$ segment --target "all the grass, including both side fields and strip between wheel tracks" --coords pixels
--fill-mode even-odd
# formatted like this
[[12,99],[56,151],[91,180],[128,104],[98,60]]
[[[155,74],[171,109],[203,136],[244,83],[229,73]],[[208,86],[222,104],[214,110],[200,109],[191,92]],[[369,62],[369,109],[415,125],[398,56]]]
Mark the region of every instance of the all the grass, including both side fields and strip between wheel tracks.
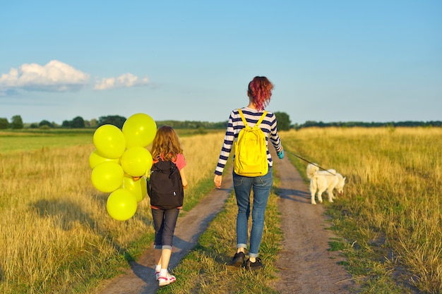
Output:
[[[185,209],[213,188],[222,135],[182,133],[191,183]],[[306,162],[289,152],[347,177],[345,194],[323,205],[342,237],[330,246],[347,256],[343,266],[360,293],[412,293],[413,287],[442,293],[441,128],[308,128],[280,135],[286,156],[304,177]],[[91,293],[150,245],[148,201],[138,204],[129,221],[107,215],[107,194],[90,183],[90,136],[71,147],[35,138],[44,147],[0,152],[1,293]],[[0,134],[0,144],[3,139]],[[266,260],[277,255],[282,238],[277,179],[270,198]],[[235,207],[230,197],[196,250],[174,270],[177,283],[161,293],[234,293],[229,286],[237,293],[273,293],[270,263],[253,276],[223,265],[234,244],[229,232]]]

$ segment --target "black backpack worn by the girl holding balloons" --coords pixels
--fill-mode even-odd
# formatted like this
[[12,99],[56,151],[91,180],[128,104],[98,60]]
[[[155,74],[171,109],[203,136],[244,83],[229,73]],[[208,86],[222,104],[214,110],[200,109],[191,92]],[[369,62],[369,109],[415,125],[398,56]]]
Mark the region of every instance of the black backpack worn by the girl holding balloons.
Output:
[[150,169],[147,182],[151,206],[160,209],[183,206],[184,188],[177,164],[158,158]]

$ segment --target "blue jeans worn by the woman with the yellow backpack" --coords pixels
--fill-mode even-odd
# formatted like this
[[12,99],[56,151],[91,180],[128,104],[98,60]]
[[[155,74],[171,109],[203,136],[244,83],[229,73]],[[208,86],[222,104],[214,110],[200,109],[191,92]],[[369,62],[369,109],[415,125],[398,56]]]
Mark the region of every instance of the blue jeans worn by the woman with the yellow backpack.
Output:
[[250,195],[253,190],[249,257],[258,257],[264,230],[265,207],[273,185],[272,168],[269,166],[265,176],[244,177],[233,173],[233,183],[238,204],[237,248],[247,248]]

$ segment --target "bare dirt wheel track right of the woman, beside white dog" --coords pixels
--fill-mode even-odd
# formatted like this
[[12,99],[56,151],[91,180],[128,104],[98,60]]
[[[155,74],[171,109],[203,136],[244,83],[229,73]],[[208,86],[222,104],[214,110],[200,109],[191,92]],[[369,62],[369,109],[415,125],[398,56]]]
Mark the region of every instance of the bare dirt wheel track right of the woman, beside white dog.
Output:
[[338,265],[342,260],[338,252],[328,251],[328,242],[335,236],[326,230],[323,205],[311,204],[307,185],[288,159],[276,159],[275,171],[281,181],[278,204],[284,232],[275,288],[287,294],[349,293],[351,276]]

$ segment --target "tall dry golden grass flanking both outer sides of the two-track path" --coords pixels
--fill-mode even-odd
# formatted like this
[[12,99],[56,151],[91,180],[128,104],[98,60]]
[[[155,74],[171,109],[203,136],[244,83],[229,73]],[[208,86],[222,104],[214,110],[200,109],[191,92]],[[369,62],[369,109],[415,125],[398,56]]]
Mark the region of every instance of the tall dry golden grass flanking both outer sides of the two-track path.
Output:
[[[186,202],[212,180],[223,134],[181,138]],[[442,292],[441,128],[309,128],[280,135],[286,151],[347,176],[345,195],[333,207],[366,235],[359,246],[391,248],[384,262],[405,266],[420,290]],[[148,198],[128,221],[107,214],[108,194],[90,183],[93,149],[0,154],[0,293],[86,293],[94,278],[124,264],[122,255],[130,258],[137,240],[152,235]]]

